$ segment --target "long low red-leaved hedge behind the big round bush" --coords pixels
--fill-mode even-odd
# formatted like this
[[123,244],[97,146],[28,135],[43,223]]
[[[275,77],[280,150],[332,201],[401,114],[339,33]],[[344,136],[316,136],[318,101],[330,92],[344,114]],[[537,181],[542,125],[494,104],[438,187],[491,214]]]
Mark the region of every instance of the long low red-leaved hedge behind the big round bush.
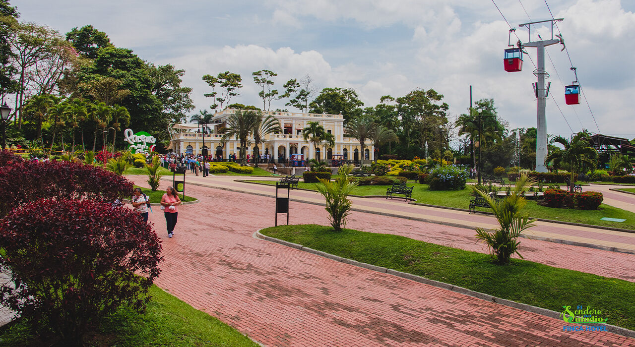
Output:
[[93,199],[116,202],[130,197],[133,185],[101,167],[77,162],[11,162],[0,167],[0,217],[35,199]]

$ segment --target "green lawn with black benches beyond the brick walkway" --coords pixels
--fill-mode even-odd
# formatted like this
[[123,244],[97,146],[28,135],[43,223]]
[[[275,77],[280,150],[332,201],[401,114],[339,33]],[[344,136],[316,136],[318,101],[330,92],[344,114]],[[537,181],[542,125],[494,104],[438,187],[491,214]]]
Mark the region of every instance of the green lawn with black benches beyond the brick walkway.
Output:
[[[275,181],[255,181],[275,185]],[[318,183],[298,183],[298,188],[316,190]],[[470,187],[464,190],[428,190],[428,185],[414,183],[409,181],[408,187],[415,186],[412,191],[413,199],[422,204],[431,204],[436,206],[457,207],[467,209],[470,200],[474,199]],[[386,195],[387,186],[360,186],[355,187],[352,191],[353,195]],[[477,207],[479,211],[490,211]],[[575,223],[584,223],[599,226],[612,226],[613,228],[625,228],[635,230],[635,213],[618,209],[617,207],[601,204],[598,210],[582,211],[577,209],[556,209],[538,205],[533,200],[528,200],[525,207],[525,213],[533,218],[553,219],[557,221],[568,221]],[[619,218],[626,219],[623,223],[603,221],[600,218]]]

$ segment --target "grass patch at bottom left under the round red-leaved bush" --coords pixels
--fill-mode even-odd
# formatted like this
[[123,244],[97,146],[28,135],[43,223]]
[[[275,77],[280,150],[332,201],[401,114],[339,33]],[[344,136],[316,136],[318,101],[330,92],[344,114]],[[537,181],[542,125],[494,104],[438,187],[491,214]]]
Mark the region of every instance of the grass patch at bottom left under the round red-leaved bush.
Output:
[[[143,314],[121,308],[107,318],[85,346],[252,346],[234,328],[203,311],[195,310],[156,286],[150,288],[152,301]],[[0,346],[50,346],[34,342],[25,322],[10,324],[0,333]]]

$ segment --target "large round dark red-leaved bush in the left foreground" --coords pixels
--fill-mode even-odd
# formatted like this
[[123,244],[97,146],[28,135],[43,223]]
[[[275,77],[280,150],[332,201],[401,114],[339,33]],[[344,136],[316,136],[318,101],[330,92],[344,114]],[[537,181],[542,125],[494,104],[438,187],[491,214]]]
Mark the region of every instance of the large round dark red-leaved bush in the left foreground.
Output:
[[162,258],[138,213],[95,200],[23,204],[0,221],[0,247],[15,283],[0,287],[0,303],[66,345],[119,306],[144,309]]

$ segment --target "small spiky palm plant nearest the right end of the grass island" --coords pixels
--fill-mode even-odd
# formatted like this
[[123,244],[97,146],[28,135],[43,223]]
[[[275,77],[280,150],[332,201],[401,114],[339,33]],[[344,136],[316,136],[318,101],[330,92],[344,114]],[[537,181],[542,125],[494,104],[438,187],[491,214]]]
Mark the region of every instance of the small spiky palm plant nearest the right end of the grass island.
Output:
[[488,202],[500,226],[493,230],[476,228],[476,238],[487,244],[491,258],[495,263],[509,264],[509,259],[514,253],[523,258],[518,252],[520,244],[518,237],[523,231],[533,226],[535,220],[530,220],[529,216],[526,215],[522,216],[520,211],[527,204],[523,192],[533,183],[535,183],[533,178],[528,178],[527,174],[522,174],[516,181],[516,187],[511,194],[500,201],[494,200],[485,190],[473,188],[474,192]]

